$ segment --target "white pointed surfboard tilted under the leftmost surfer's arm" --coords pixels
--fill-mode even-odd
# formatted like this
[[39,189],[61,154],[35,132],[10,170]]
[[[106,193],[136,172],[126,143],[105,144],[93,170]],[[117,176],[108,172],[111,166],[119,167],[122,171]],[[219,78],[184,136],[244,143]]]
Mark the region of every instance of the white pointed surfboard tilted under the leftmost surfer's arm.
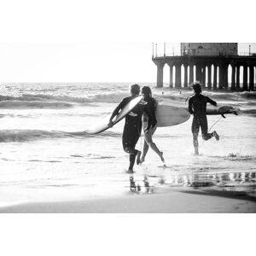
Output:
[[[116,116],[116,118],[113,119],[113,125],[116,125],[121,119],[123,119],[128,113],[130,113],[131,110],[135,108],[139,102],[142,101],[142,99],[143,96],[137,96],[131,102],[128,102],[125,105],[125,108],[123,108]],[[108,125],[110,117],[111,114],[108,117],[102,119],[99,123],[96,123],[96,125],[93,125],[90,129],[85,130],[85,132],[89,134],[97,134],[102,131],[108,130],[108,128],[110,128],[110,126]]]

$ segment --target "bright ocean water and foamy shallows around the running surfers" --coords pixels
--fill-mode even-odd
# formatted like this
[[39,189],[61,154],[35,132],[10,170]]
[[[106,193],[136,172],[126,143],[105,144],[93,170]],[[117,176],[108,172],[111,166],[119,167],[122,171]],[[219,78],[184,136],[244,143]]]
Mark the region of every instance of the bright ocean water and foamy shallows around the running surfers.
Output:
[[[192,118],[159,128],[154,142],[166,167],[149,149],[128,175],[121,143],[124,121],[99,135],[86,129],[129,96],[131,83],[0,84],[0,207],[32,201],[95,199],[132,193],[164,193],[172,187],[256,191],[256,93],[205,91],[238,116],[209,116],[219,142],[203,142],[193,154]],[[187,108],[191,90],[149,85],[160,103]],[[212,126],[213,125],[213,126]],[[211,127],[212,126],[212,127]],[[137,149],[143,148],[143,136]]]

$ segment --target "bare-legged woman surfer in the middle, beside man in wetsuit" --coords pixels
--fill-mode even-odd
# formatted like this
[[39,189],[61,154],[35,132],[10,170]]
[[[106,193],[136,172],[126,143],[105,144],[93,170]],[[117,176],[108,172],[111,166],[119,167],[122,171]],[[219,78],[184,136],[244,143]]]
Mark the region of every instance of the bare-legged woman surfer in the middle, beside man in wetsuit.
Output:
[[[143,161],[145,160],[149,147],[152,148],[154,152],[159,155],[160,160],[165,163],[163,152],[161,152],[159,148],[157,148],[152,139],[154,131],[156,131],[157,128],[157,120],[155,117],[157,102],[155,101],[154,97],[152,97],[152,91],[148,86],[143,86],[142,93],[144,95],[144,101],[148,103],[148,108],[150,110],[150,113],[152,114],[152,119],[154,120],[155,125],[151,126],[148,132],[145,132],[144,134],[143,156],[141,158],[141,163],[143,163]],[[147,113],[143,113],[143,128],[146,129],[146,127],[148,127],[148,115]]]

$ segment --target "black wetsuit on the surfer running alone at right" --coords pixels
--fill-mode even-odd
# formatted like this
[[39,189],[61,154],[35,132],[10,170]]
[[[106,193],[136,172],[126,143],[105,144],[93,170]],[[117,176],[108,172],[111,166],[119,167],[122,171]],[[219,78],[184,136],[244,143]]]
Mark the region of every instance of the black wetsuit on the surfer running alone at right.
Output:
[[197,143],[197,137],[199,133],[199,128],[201,127],[201,135],[204,140],[208,140],[213,137],[212,133],[208,133],[207,125],[207,102],[211,103],[213,106],[217,105],[217,102],[212,101],[207,96],[201,94],[195,94],[195,96],[189,99],[189,113],[194,114],[194,119],[192,122],[192,133],[194,136],[195,146]]

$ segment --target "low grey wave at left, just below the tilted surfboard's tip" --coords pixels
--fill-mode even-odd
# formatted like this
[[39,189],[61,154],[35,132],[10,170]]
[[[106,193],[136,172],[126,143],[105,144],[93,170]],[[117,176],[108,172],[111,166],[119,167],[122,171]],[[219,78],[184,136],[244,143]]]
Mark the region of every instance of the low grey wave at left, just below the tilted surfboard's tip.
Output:
[[0,143],[26,143],[43,139],[88,137],[120,137],[119,133],[107,131],[98,135],[90,135],[85,131],[44,131],[44,130],[2,130],[0,131]]

